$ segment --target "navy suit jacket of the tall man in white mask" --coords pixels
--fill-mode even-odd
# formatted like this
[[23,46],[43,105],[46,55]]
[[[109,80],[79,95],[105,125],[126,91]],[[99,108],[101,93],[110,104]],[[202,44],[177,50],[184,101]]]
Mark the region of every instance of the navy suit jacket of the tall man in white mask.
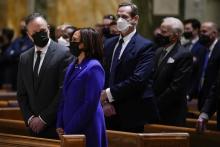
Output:
[[[111,76],[113,50],[119,37],[105,41],[106,88]],[[141,126],[157,120],[158,113],[153,99],[152,68],[154,50],[152,43],[137,33],[132,37],[116,67],[114,84],[110,87],[114,98],[118,124],[121,130]]]

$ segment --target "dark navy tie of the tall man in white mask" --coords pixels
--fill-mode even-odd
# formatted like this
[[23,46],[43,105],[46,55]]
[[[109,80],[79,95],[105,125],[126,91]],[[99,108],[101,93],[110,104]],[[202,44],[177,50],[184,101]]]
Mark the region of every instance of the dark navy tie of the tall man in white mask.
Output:
[[110,74],[110,79],[109,79],[109,86],[112,86],[114,84],[116,67],[117,67],[117,64],[118,64],[118,61],[119,61],[118,58],[119,58],[123,43],[124,43],[124,40],[123,40],[123,38],[121,38],[119,40],[118,46],[117,46],[117,48],[115,50],[115,53],[114,53],[114,56],[112,58],[112,64],[111,64],[111,69],[110,69],[111,74]]

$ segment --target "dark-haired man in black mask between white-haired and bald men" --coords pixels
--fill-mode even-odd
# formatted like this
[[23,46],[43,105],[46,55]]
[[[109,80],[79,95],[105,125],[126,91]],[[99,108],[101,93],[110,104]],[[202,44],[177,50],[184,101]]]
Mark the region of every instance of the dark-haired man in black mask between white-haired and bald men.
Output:
[[199,32],[201,24],[197,19],[184,20],[184,38],[188,41],[183,46],[193,55],[193,69],[187,92],[187,99],[198,98],[199,78],[202,73],[203,59],[205,56],[205,47],[199,42]]

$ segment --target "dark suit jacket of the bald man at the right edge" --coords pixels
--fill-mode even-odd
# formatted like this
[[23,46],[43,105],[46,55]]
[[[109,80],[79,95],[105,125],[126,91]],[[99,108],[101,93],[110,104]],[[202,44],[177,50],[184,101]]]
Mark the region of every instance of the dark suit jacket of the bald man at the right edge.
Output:
[[[204,59],[203,59],[204,62]],[[217,79],[217,74],[220,69],[220,41],[216,43],[213,48],[212,54],[209,58],[208,65],[205,71],[204,84],[199,91],[198,108],[201,110],[206,98],[209,95],[212,85]]]

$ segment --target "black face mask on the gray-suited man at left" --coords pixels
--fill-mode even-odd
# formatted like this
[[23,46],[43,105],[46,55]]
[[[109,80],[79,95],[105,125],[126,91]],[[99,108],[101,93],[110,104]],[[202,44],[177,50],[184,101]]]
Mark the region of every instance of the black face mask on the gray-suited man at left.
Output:
[[49,41],[48,34],[45,31],[34,33],[32,38],[34,39],[34,44],[38,47],[45,47]]

